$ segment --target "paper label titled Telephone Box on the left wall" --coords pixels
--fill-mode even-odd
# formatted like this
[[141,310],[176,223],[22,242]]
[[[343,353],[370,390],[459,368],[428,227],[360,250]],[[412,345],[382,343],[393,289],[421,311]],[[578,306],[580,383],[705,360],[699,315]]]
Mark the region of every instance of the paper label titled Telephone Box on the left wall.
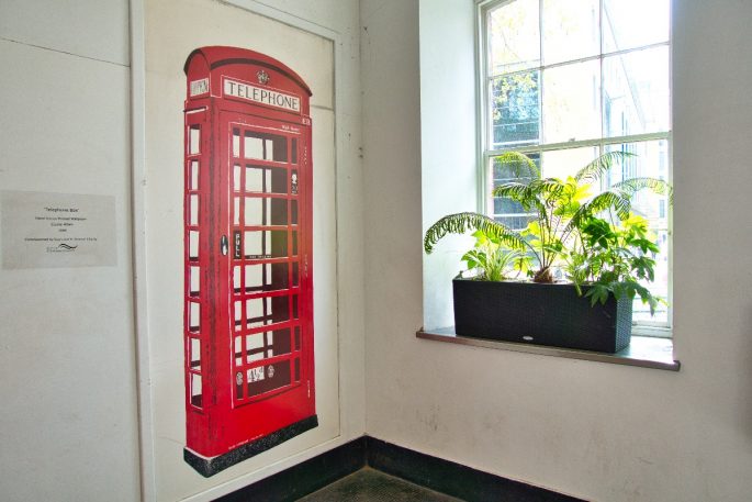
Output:
[[115,198],[1,191],[0,236],[4,269],[114,266]]

